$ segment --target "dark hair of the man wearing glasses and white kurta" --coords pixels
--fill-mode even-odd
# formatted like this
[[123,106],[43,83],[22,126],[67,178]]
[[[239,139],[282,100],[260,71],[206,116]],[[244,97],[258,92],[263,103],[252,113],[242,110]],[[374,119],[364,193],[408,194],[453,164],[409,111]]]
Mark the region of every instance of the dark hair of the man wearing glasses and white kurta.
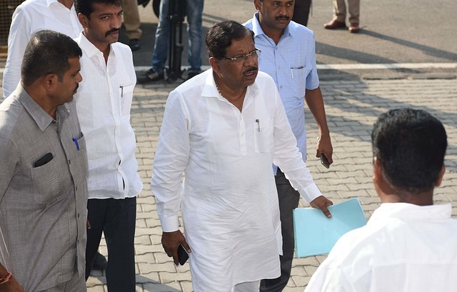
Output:
[[214,24],[206,34],[206,48],[209,58],[221,58],[226,56],[226,51],[234,39],[243,39],[244,36],[251,36],[254,41],[254,33],[246,26],[236,21],[222,21]]

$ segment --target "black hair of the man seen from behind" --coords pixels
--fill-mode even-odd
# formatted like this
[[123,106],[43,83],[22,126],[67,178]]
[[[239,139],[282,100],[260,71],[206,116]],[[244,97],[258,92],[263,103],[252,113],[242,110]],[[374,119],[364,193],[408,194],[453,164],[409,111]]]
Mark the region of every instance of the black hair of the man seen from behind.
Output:
[[441,121],[420,109],[393,109],[379,116],[371,141],[391,186],[413,194],[433,191],[448,146]]

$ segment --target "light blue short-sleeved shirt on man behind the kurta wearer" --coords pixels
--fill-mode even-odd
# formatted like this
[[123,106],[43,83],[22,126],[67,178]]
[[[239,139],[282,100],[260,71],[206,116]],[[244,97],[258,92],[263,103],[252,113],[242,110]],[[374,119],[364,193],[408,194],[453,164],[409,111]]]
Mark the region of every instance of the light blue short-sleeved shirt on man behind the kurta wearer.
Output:
[[304,96],[306,89],[317,89],[319,86],[313,31],[291,21],[276,44],[263,32],[258,12],[244,25],[254,32],[256,48],[262,51],[258,69],[270,75],[278,87],[298,149],[306,161]]

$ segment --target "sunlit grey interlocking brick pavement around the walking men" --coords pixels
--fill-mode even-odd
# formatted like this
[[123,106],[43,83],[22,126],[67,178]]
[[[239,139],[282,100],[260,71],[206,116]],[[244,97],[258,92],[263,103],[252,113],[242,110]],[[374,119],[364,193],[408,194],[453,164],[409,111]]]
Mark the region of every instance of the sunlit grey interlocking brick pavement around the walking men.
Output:
[[[192,291],[189,264],[176,267],[161,247],[161,227],[149,182],[164,106],[177,84],[136,86],[131,124],[137,137],[136,158],[144,182],[136,223],[136,291]],[[457,79],[370,80],[321,82],[333,141],[331,168],[314,157],[317,128],[307,111],[308,166],[321,191],[334,203],[357,196],[369,218],[379,200],[371,183],[370,134],[377,116],[388,109],[413,106],[441,119],[448,133],[447,172],[436,190],[436,203],[451,202],[457,215]],[[301,201],[302,206],[308,206]],[[104,243],[102,243],[104,244]],[[106,246],[101,252],[106,254]],[[296,258],[285,292],[303,291],[325,256]],[[94,271],[89,292],[106,291],[104,273]]]

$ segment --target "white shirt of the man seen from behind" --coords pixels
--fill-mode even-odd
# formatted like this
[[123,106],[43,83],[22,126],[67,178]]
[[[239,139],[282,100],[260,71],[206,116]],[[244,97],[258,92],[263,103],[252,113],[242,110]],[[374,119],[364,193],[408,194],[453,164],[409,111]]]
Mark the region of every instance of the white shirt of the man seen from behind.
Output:
[[457,220],[451,204],[383,203],[342,236],[306,292],[451,292],[457,289]]

